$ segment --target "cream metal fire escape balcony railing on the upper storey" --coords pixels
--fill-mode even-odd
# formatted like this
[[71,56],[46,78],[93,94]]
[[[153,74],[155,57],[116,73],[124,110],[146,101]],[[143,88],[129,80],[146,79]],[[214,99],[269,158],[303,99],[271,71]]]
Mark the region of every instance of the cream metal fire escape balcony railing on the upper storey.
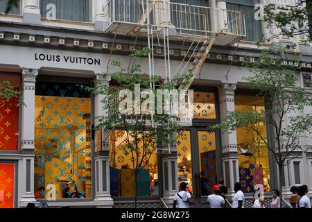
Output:
[[110,0],[104,10],[108,33],[146,35],[147,24],[153,31],[173,28],[176,36],[224,33],[244,37],[246,33],[243,12],[234,10],[153,0]]

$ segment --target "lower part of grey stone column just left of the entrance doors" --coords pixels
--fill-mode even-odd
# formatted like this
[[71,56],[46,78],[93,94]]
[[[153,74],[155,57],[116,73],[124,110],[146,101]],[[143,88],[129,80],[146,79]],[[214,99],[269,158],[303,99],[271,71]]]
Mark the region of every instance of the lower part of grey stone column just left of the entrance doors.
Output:
[[175,135],[172,137],[171,154],[162,158],[162,171],[163,171],[163,189],[164,189],[164,202],[168,207],[173,206],[173,196],[177,194],[179,188],[177,186],[177,146],[175,144]]

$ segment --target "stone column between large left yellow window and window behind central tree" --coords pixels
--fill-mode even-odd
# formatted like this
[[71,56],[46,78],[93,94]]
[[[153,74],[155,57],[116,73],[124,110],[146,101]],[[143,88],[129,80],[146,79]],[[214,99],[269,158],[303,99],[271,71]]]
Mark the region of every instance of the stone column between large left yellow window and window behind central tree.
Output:
[[[110,78],[101,74],[96,74],[96,86],[109,85]],[[105,94],[99,92],[94,98],[94,116],[105,116],[106,110],[103,108]],[[95,119],[95,126],[98,126],[98,119]],[[96,130],[95,137],[95,191],[94,203],[99,208],[111,208],[114,204],[110,196],[110,144],[108,130]]]

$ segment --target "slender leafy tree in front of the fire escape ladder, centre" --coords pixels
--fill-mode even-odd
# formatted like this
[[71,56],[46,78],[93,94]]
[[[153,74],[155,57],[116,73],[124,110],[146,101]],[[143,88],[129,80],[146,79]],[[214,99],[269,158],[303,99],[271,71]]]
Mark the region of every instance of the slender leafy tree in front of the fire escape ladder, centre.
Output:
[[[103,116],[96,117],[99,122],[96,130],[108,130],[109,135],[117,129],[125,132],[127,139],[121,149],[123,155],[131,157],[131,167],[135,176],[134,207],[137,207],[139,173],[148,166],[150,157],[157,149],[164,151],[175,142],[177,139],[175,135],[181,130],[171,108],[169,113],[159,114],[157,112],[157,108],[159,108],[155,105],[155,98],[159,99],[157,89],[163,89],[165,94],[168,94],[171,90],[183,85],[184,78],[191,78],[191,74],[177,75],[166,83],[159,77],[150,78],[142,73],[141,65],[137,63],[140,57],[148,56],[148,53],[150,53],[148,49],[135,50],[131,55],[135,62],[128,69],[123,69],[121,62],[112,61],[112,66],[118,71],[106,72],[103,75],[110,76],[111,81],[117,83],[117,87],[107,87],[101,83],[98,83],[94,89],[85,87],[95,94],[105,95],[105,99],[101,103],[107,112]],[[138,85],[143,90],[136,91]],[[155,85],[157,85],[157,89],[155,89]],[[132,98],[135,98],[138,92],[141,96],[133,102]],[[171,101],[175,99],[174,96],[170,97]],[[161,105],[166,105],[165,100]],[[136,109],[137,112],[133,112]]]

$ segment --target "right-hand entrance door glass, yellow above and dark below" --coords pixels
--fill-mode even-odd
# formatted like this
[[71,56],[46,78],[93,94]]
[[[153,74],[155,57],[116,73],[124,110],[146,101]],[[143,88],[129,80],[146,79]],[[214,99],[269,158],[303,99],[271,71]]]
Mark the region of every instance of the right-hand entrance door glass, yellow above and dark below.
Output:
[[216,133],[198,131],[198,151],[200,157],[200,194],[211,194],[217,182],[216,173]]

